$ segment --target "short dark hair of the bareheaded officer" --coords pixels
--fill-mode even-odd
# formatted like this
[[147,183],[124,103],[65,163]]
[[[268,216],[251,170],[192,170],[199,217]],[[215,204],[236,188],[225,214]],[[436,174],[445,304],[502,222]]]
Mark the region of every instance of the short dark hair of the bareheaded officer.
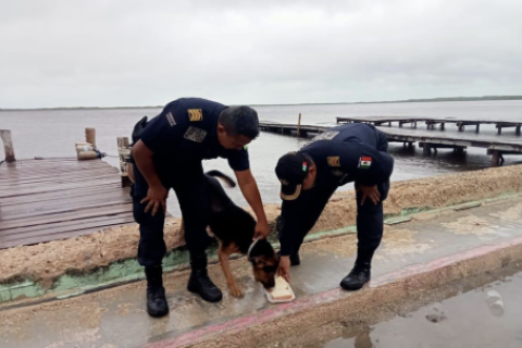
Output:
[[249,139],[256,139],[259,135],[258,112],[250,107],[228,107],[221,112],[220,123],[226,133]]

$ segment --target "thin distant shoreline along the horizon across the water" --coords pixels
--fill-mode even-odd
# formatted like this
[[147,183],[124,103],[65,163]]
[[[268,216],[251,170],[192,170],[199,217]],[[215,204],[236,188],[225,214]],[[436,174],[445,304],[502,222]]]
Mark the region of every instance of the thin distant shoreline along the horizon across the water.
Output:
[[[484,97],[449,97],[406,99],[389,101],[356,101],[356,102],[310,102],[289,104],[249,104],[251,107],[291,107],[291,105],[336,105],[336,104],[380,104],[380,103],[406,103],[406,102],[444,102],[444,101],[496,101],[496,100],[522,100],[522,96],[484,96]],[[161,109],[164,105],[150,107],[71,107],[71,108],[34,108],[34,109],[2,109],[1,111],[46,111],[46,110],[112,110],[112,109]]]

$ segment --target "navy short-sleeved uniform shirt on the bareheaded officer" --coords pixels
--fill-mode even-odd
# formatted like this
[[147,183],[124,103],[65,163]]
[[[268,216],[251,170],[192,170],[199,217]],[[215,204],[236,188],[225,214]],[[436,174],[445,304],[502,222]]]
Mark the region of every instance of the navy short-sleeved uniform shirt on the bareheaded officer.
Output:
[[228,159],[234,171],[249,169],[246,147],[225,149],[217,140],[217,120],[227,107],[200,98],[183,98],[169,103],[140,135],[154,153],[154,162],[190,163],[217,157]]

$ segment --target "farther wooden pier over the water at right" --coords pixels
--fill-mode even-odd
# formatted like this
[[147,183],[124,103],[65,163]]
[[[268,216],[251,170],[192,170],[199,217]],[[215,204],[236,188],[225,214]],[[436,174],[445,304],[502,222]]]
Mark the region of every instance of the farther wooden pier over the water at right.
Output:
[[465,126],[474,126],[475,133],[480,132],[482,124],[493,124],[497,128],[497,133],[502,134],[502,128],[514,127],[515,135],[521,135],[522,122],[499,121],[499,120],[459,120],[459,119],[430,119],[417,116],[352,116],[352,117],[337,117],[337,123],[370,123],[376,126],[387,124],[391,126],[393,123],[398,123],[399,128],[405,124],[410,124],[417,128],[418,123],[424,122],[428,129],[435,129],[436,126],[444,130],[447,123],[455,123],[459,132],[464,132]]

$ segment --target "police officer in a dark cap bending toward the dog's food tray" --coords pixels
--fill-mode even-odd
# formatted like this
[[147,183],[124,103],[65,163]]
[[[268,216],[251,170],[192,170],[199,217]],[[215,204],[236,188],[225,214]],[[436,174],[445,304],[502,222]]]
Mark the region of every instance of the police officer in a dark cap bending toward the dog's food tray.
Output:
[[357,190],[357,260],[341,281],[347,290],[370,281],[374,251],[383,237],[383,200],[389,189],[394,160],[386,135],[362,123],[347,124],[319,135],[298,152],[283,156],[279,178],[279,274],[290,281],[289,268],[300,263],[299,248],[337,187],[355,182]]

